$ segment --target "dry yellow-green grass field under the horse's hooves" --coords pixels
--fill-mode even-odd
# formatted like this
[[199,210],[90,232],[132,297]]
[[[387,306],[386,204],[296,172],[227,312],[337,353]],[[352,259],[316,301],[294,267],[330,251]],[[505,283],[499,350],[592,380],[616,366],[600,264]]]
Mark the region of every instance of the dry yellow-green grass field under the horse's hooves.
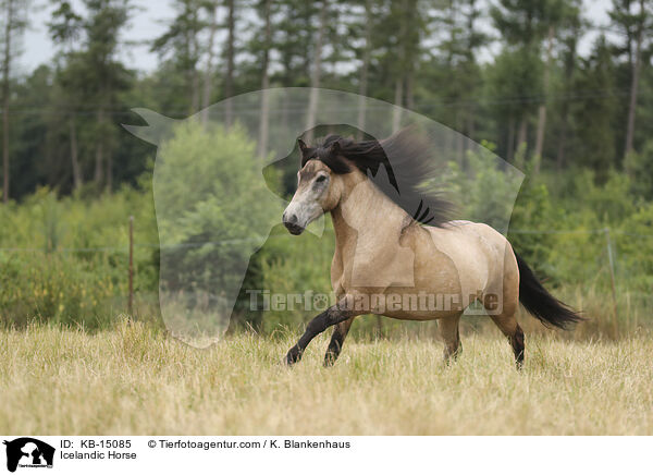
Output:
[[196,350],[139,324],[94,334],[53,327],[0,332],[0,433],[187,435],[653,434],[653,340],[571,342],[468,334],[444,366],[429,339],[326,337],[294,368],[295,336],[232,337]]

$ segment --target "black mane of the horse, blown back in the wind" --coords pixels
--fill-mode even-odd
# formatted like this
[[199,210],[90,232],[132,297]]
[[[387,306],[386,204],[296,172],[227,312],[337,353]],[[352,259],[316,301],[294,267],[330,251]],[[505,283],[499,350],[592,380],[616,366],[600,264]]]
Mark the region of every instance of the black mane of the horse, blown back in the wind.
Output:
[[[337,174],[352,172],[352,166],[358,168],[418,222],[442,226],[451,219],[452,204],[428,185],[436,179],[433,147],[414,127],[382,141],[328,135],[321,144],[303,150],[301,167],[310,159],[322,161]],[[387,180],[379,175],[381,166]]]

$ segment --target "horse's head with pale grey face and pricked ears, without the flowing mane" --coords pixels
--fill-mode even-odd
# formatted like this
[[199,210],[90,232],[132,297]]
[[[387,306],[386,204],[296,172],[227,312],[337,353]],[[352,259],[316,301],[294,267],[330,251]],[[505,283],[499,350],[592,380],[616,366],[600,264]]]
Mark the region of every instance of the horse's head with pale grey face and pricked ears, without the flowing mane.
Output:
[[297,191],[283,212],[283,223],[295,235],[301,234],[311,221],[335,208],[342,193],[341,175],[326,165],[332,161],[330,157],[333,157],[333,162],[342,159],[338,142],[319,148],[308,147],[301,139],[297,143],[301,151]]

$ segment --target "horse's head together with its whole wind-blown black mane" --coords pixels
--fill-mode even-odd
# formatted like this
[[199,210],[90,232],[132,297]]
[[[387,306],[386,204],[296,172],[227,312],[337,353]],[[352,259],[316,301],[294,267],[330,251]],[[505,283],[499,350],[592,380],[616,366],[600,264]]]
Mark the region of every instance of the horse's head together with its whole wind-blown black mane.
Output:
[[405,127],[382,141],[370,136],[356,142],[329,135],[316,147],[297,142],[301,151],[299,180],[283,214],[291,233],[300,234],[341,199],[349,199],[352,190],[365,179],[370,179],[416,221],[441,226],[449,220],[452,205],[436,190],[424,187],[438,176],[433,156],[436,147],[417,126]]

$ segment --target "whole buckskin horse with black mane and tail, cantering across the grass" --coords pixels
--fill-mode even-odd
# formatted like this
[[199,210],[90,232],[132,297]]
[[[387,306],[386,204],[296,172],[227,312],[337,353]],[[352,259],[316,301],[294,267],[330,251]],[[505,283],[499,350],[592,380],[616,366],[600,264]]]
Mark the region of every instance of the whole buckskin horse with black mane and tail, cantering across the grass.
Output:
[[[546,291],[503,234],[484,223],[449,219],[451,203],[423,186],[432,172],[431,151],[410,127],[381,141],[332,134],[312,146],[298,138],[297,145],[297,188],[282,219],[299,235],[331,214],[336,303],[308,322],[287,352],[287,365],[299,362],[310,341],[332,326],[324,366],[333,365],[352,322],[365,314],[436,319],[448,363],[461,352],[461,315],[480,302],[507,337],[517,368],[525,357],[519,302],[547,327],[566,329],[582,320]],[[383,180],[374,179],[382,172]]]

